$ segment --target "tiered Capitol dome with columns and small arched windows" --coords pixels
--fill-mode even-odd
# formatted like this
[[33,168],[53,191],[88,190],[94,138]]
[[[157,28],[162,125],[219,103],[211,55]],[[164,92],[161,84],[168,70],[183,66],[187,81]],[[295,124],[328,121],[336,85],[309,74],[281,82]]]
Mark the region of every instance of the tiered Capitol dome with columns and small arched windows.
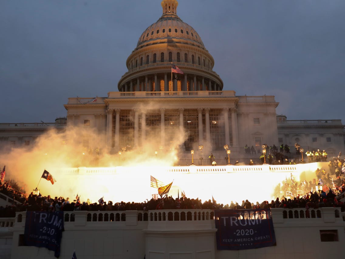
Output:
[[[140,35],[118,83],[120,92],[219,91],[223,81],[199,34],[177,16],[178,2],[163,0],[162,16]],[[183,73],[171,74],[174,64]]]

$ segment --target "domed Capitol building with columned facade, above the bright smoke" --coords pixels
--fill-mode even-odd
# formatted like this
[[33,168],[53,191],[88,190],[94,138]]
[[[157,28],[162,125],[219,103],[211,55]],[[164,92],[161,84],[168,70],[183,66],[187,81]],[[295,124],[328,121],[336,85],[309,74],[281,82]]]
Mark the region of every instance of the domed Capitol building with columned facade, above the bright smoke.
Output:
[[[177,16],[177,1],[162,1],[163,14],[140,35],[126,61],[128,72],[118,82],[118,92],[107,97],[69,98],[67,131],[73,126],[95,130],[104,136],[108,153],[124,147],[140,147],[154,139],[154,149],[174,148],[190,153],[204,146],[205,153],[234,153],[248,144],[325,149],[329,156],[345,153],[341,120],[287,121],[276,115],[274,96],[236,96],[224,91],[213,71],[215,61],[199,34]],[[171,73],[172,64],[184,74]],[[0,144],[31,145],[46,123],[0,124]],[[49,124],[66,128],[66,119]],[[91,147],[90,136],[81,141]],[[152,144],[153,145],[153,144]],[[224,150],[223,150],[224,151]]]

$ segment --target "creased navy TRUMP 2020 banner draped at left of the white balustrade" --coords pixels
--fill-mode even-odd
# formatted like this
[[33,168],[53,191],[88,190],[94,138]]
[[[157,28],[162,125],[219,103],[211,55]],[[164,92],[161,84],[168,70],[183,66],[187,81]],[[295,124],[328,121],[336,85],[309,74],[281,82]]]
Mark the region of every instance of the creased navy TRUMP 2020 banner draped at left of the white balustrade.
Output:
[[24,238],[27,246],[45,247],[60,256],[63,211],[27,211]]

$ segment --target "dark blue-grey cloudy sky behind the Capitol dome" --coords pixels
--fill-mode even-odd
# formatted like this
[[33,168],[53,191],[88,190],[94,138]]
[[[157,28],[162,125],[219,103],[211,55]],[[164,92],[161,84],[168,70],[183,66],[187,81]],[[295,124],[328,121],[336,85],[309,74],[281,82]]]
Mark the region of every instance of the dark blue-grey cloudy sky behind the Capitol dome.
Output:
[[[160,0],[0,0],[0,123],[53,122],[117,91]],[[288,119],[344,115],[344,0],[180,0],[224,90],[275,95]]]

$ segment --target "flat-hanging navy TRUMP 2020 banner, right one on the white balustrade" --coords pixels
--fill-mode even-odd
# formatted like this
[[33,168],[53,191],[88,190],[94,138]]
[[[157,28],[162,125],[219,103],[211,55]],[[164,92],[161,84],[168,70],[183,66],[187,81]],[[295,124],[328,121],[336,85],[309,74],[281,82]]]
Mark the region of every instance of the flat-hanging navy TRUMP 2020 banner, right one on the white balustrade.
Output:
[[269,209],[215,210],[218,250],[242,250],[276,245]]

